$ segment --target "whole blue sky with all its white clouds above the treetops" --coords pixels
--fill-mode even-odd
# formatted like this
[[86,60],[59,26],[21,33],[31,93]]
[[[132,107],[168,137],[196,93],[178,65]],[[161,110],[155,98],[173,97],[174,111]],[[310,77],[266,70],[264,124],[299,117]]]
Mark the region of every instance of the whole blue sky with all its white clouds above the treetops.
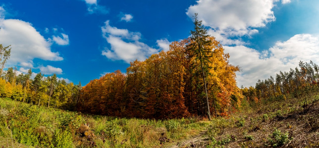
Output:
[[241,67],[238,86],[319,64],[318,0],[0,0],[0,43],[6,67],[85,85],[187,38],[194,13]]

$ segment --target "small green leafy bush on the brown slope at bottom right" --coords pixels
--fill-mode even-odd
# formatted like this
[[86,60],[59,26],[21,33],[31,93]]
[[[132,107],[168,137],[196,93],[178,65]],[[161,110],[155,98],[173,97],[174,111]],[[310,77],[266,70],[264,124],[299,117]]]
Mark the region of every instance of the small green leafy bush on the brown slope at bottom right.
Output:
[[291,139],[289,139],[289,133],[281,133],[280,130],[275,129],[272,134],[268,136],[268,143],[267,146],[277,148],[285,145],[288,143]]

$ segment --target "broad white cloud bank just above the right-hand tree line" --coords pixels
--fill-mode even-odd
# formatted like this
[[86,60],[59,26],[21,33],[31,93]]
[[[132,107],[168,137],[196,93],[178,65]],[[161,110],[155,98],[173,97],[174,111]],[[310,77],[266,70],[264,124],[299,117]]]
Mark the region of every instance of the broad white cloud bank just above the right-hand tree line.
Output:
[[255,86],[258,79],[265,80],[279,71],[288,72],[298,67],[299,61],[319,63],[319,37],[309,34],[278,41],[263,52],[243,45],[224,46],[224,49],[230,55],[230,64],[241,67],[241,72],[237,73],[238,85],[246,87]]

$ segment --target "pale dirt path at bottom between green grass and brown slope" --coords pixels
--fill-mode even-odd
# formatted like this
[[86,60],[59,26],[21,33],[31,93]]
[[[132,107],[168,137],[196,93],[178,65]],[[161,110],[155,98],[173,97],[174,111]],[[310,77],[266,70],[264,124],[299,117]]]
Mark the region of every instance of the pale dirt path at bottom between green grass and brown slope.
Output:
[[170,148],[205,148],[205,145],[207,144],[208,138],[205,137],[205,132],[201,132],[199,135],[184,140],[182,142],[177,142],[174,144],[174,146]]

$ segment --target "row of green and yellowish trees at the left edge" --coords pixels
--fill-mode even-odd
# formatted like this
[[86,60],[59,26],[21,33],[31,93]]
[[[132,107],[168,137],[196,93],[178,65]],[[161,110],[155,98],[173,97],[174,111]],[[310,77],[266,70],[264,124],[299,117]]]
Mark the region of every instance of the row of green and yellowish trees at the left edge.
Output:
[[75,110],[80,97],[81,83],[74,85],[58,80],[56,74],[44,76],[36,74],[32,79],[31,69],[27,74],[16,74],[8,68],[0,78],[0,96],[38,106]]

